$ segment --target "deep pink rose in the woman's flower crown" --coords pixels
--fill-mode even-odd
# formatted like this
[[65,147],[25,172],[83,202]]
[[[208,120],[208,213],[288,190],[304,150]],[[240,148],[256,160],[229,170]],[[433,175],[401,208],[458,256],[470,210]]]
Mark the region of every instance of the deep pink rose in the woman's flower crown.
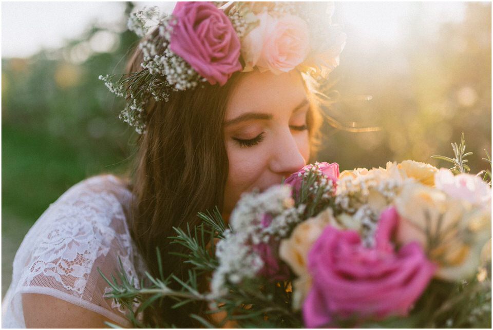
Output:
[[210,84],[224,85],[241,70],[240,41],[229,18],[207,2],[179,2],[169,48]]

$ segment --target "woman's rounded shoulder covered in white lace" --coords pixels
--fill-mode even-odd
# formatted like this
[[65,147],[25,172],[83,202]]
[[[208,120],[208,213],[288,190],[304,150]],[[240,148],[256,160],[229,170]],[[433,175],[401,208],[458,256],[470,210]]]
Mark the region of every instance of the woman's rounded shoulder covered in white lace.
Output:
[[[125,181],[112,174],[94,176],[73,185],[29,230],[20,247],[27,254],[24,261],[43,260],[46,265],[54,266],[55,279],[62,273],[78,271],[87,278],[94,261],[104,262],[108,253],[129,256],[131,239],[127,219],[131,199]],[[55,260],[64,260],[66,265]],[[28,273],[30,277],[41,274]],[[47,275],[46,270],[43,275]],[[82,293],[83,285],[70,285],[69,289]]]

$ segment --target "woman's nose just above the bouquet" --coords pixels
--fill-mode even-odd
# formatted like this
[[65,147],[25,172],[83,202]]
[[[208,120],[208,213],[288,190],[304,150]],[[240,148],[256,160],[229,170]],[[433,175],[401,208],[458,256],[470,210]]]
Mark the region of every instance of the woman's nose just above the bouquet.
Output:
[[279,136],[273,147],[270,168],[273,172],[287,178],[293,172],[305,166],[306,160],[300,152],[299,146],[291,131]]

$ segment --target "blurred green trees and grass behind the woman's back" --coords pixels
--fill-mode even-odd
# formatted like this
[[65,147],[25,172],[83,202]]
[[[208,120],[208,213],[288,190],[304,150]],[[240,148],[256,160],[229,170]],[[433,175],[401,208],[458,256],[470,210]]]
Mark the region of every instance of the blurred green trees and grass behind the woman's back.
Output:
[[122,102],[98,80],[123,71],[138,41],[126,30],[133,4],[122,5],[126,17],[116,26],[92,25],[61,49],[2,59],[3,210],[33,222],[70,185],[127,170],[132,129],[116,118]]

